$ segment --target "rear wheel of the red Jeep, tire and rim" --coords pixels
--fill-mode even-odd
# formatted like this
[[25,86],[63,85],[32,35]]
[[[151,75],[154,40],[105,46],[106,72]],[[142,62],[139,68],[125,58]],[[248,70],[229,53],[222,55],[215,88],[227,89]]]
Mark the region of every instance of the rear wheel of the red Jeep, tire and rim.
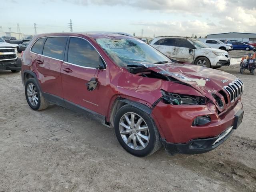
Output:
[[[29,94],[29,95],[28,95]],[[36,111],[44,110],[48,107],[48,101],[44,98],[38,82],[35,78],[30,78],[25,83],[25,96],[30,108]]]

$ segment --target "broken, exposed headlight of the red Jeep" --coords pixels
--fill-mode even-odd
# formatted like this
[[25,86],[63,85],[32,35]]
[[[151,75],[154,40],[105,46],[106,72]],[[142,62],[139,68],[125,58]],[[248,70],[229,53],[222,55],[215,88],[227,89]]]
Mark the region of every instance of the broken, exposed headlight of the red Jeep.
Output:
[[176,94],[161,90],[163,102],[172,105],[204,105],[206,98],[194,95]]

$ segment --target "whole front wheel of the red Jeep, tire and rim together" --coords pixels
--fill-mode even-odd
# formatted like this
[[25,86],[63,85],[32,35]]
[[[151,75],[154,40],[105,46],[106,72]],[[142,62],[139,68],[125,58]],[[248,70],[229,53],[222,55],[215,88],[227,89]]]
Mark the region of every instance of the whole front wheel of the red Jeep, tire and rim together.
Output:
[[[132,114],[134,115],[134,123],[132,123]],[[142,118],[142,121],[136,126],[140,118]],[[129,123],[126,119],[128,119]],[[134,126],[134,128],[129,129],[128,127],[131,128],[131,125]],[[138,131],[141,128],[143,131]],[[154,120],[146,112],[143,112],[136,107],[130,105],[122,106],[116,113],[114,129],[116,138],[121,146],[134,156],[149,156],[162,146],[160,134]],[[121,134],[120,132],[123,132],[124,134]],[[134,138],[136,145],[134,145]]]

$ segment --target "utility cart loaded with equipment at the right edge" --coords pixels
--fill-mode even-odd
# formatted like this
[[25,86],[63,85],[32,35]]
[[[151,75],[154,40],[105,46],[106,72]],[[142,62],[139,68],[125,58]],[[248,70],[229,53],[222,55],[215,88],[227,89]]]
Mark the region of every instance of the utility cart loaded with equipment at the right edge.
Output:
[[243,74],[245,70],[250,70],[250,73],[254,74],[254,70],[256,68],[255,57],[256,57],[255,53],[249,53],[242,58],[240,62],[240,74]]

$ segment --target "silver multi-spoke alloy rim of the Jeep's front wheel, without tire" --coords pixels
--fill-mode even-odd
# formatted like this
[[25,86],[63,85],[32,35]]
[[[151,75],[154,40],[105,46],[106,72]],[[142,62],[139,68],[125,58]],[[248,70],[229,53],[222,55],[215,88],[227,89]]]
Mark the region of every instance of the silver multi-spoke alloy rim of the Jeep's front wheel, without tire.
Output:
[[124,143],[134,150],[143,150],[148,145],[148,126],[136,113],[129,112],[121,117],[119,131]]

